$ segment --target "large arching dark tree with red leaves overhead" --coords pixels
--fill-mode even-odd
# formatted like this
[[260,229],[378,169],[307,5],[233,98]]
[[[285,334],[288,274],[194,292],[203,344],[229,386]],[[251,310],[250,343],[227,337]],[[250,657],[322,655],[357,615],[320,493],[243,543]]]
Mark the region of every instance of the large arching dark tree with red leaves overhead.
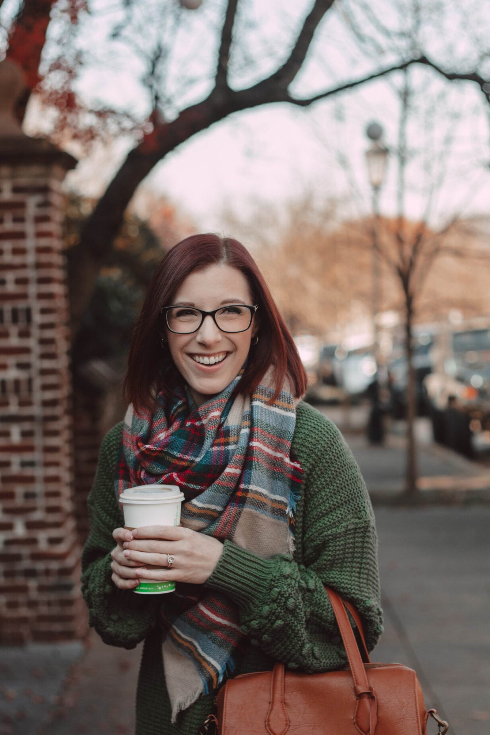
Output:
[[[272,27],[269,12],[261,15],[257,4],[245,0],[207,0],[194,13],[181,7],[177,0],[120,0],[109,10],[104,4],[93,3],[89,7],[84,0],[21,2],[8,32],[7,57],[21,63],[29,90],[35,90],[40,101],[48,105],[51,114],[43,118],[46,124],[51,121],[48,132],[60,143],[75,138],[87,144],[96,137],[116,135],[136,142],[85,221],[73,251],[78,274],[71,283],[73,334],[79,329],[98,272],[107,260],[138,184],[157,162],[197,132],[233,112],[263,104],[287,102],[307,107],[414,63],[430,66],[446,79],[474,82],[489,99],[490,87],[483,71],[442,68],[421,53],[423,44],[414,43],[413,38],[403,34],[407,12],[418,18],[417,22],[422,18],[418,1],[401,8],[403,12],[397,16],[400,28],[395,27],[396,21],[388,26],[386,18],[391,18],[392,13],[386,13],[387,10],[390,4],[386,7],[380,3],[376,15],[372,4],[364,1],[352,7],[347,1],[334,4],[333,0],[314,0],[306,12],[301,7],[287,15],[281,8],[282,24],[275,24],[275,33],[270,34],[265,29],[267,24]],[[87,42],[86,37],[79,42],[81,18],[86,19],[89,11],[93,42]],[[298,93],[298,79],[312,62],[312,41],[315,35],[318,40],[327,13],[336,22],[346,23],[364,44],[364,56],[356,66],[359,73],[355,79],[340,84],[330,82],[323,89],[314,93],[308,90],[302,95]],[[262,26],[264,37],[260,35]],[[255,58],[249,51],[253,32],[258,32],[260,39]],[[421,33],[419,37],[422,36]],[[329,43],[331,47],[331,38]],[[315,43],[313,51],[317,63],[328,68],[322,60],[321,46]],[[87,107],[76,93],[82,68],[91,64],[100,75],[116,60],[120,71],[126,50],[140,69],[146,90],[140,112],[135,112],[137,104],[130,104],[127,110],[103,104]],[[37,83],[41,55],[43,79]],[[483,49],[472,58],[474,69],[483,69],[488,57]],[[352,68],[348,56],[344,65]],[[451,66],[455,66],[452,57]],[[127,101],[132,102],[132,98],[129,93]],[[22,110],[19,112],[22,115]]]

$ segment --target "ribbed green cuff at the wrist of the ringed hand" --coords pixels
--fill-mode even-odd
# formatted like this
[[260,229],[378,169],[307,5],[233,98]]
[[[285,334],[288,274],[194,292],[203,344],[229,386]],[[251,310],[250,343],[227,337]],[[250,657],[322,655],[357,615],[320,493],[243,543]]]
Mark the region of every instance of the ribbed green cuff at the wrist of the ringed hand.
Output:
[[225,592],[241,607],[253,606],[264,600],[274,573],[274,559],[264,559],[256,553],[225,541],[225,548],[206,587]]

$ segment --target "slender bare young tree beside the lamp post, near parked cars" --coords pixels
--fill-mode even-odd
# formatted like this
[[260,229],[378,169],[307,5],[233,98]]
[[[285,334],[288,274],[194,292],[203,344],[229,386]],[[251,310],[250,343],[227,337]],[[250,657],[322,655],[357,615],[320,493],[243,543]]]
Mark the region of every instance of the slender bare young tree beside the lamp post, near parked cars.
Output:
[[[442,137],[442,146],[436,143],[433,133],[439,126],[439,113],[444,101],[434,98],[425,104],[425,118],[422,126],[414,135],[411,123],[419,120],[422,104],[425,102],[423,96],[425,89],[419,80],[405,69],[402,81],[397,92],[400,100],[400,114],[398,118],[397,143],[393,147],[396,166],[396,199],[397,216],[392,220],[383,221],[379,218],[378,223],[373,222],[373,227],[379,225],[378,236],[372,237],[372,247],[375,254],[386,268],[397,280],[401,293],[403,294],[403,323],[405,328],[405,354],[408,366],[408,381],[406,395],[406,418],[407,418],[407,461],[406,461],[406,495],[408,498],[416,498],[417,488],[417,445],[414,433],[414,420],[417,412],[416,407],[416,385],[414,368],[414,336],[413,327],[417,311],[422,307],[422,294],[425,284],[433,273],[433,265],[444,255],[460,259],[474,259],[477,251],[469,240],[460,240],[458,245],[450,241],[456,224],[461,220],[461,212],[466,205],[461,201],[453,211],[445,213],[444,221],[434,232],[429,226],[433,215],[434,201],[439,196],[447,175],[447,155],[453,146],[455,132],[457,129],[458,115],[451,114],[447,108],[447,129]],[[407,216],[407,198],[411,193],[411,181],[408,173],[414,160],[419,157],[423,161],[425,181],[417,182],[417,193],[422,202],[422,215],[418,221],[410,222]],[[475,165],[475,164],[472,164]],[[477,167],[480,162],[476,163]],[[478,249],[478,248],[477,248]],[[480,250],[478,257],[484,255],[489,262],[489,253]],[[447,291],[447,284],[445,284]],[[455,302],[455,292],[451,294],[453,308],[459,306]]]

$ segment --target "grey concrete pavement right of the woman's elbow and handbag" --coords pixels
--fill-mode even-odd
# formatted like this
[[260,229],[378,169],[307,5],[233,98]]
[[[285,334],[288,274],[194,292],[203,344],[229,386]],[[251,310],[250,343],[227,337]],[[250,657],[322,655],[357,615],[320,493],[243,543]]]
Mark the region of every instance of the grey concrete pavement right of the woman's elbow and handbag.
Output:
[[378,508],[376,520],[385,632],[372,660],[417,670],[451,735],[488,735],[490,508]]

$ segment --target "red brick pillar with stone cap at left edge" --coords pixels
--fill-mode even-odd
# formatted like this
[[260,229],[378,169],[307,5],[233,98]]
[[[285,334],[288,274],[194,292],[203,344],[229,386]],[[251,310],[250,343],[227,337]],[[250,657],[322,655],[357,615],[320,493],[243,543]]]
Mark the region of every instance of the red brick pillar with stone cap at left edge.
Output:
[[[67,640],[85,625],[73,516],[68,298],[61,238],[76,165],[12,117],[0,64],[0,641]],[[2,124],[3,123],[3,124]],[[7,123],[7,124],[6,124]]]

